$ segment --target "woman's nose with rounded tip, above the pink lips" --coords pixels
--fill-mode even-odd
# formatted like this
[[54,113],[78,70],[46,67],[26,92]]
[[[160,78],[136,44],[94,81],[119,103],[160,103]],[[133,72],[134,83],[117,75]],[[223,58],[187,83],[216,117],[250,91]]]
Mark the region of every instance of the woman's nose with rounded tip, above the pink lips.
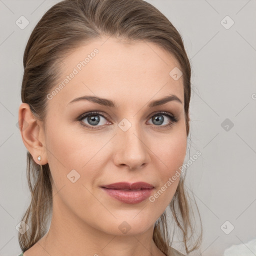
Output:
[[116,146],[113,160],[116,166],[137,169],[148,164],[150,150],[138,125],[132,124],[126,131],[118,128],[114,139]]

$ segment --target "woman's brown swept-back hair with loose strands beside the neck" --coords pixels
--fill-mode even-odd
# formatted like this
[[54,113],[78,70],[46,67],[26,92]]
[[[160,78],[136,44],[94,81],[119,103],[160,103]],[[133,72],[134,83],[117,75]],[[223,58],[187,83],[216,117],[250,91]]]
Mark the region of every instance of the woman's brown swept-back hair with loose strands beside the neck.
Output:
[[[175,56],[183,73],[184,111],[188,136],[191,68],[182,37],[159,10],[143,0],[63,0],[53,5],[38,21],[25,47],[22,102],[29,104],[36,118],[44,120],[47,110],[46,95],[56,84],[61,71],[58,68],[61,58],[81,44],[102,35],[113,35],[127,41],[153,42]],[[19,245],[23,251],[46,233],[47,216],[52,210],[52,178],[48,163],[42,166],[42,171],[39,169],[39,165],[27,151],[27,180],[31,202],[21,219],[29,225],[29,229],[23,234],[18,234]],[[194,230],[187,198],[184,177],[180,176],[169,207],[188,253],[199,247],[202,230],[189,248],[189,231],[193,233]],[[165,211],[154,225],[153,240],[163,253],[174,254],[175,250],[169,243]]]

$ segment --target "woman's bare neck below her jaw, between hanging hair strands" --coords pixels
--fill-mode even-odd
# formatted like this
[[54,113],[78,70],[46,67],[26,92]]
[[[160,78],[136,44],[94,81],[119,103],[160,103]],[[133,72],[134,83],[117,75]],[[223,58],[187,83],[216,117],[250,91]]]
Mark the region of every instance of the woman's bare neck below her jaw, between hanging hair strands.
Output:
[[50,228],[38,241],[44,253],[38,255],[163,256],[153,242],[152,235],[153,225],[139,234],[107,233],[99,226],[81,220],[68,207],[63,209],[62,205],[52,209]]

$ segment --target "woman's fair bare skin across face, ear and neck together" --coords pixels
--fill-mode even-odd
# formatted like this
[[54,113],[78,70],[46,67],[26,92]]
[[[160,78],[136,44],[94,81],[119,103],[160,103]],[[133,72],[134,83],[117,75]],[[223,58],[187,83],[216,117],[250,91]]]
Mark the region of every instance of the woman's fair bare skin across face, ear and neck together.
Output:
[[[50,228],[24,256],[164,255],[152,240],[153,227],[171,201],[179,177],[153,202],[145,199],[126,204],[100,186],[144,181],[153,184],[153,195],[182,165],[186,153],[183,81],[182,76],[174,80],[169,75],[172,68],[181,69],[180,65],[153,43],[102,37],[63,59],[58,82],[94,48],[99,50],[95,57],[48,100],[45,129],[28,104],[19,107],[19,119],[27,125],[20,130],[24,145],[36,163],[49,164],[54,181]],[[169,101],[147,107],[149,101],[169,94],[182,103]],[[111,99],[118,107],[87,100],[68,104],[84,95]],[[89,129],[81,125],[93,126],[88,118],[76,121],[89,111],[100,111],[110,118],[99,115],[100,123]],[[158,111],[179,120],[166,126],[172,120],[162,115],[164,121],[157,125],[151,117]],[[131,123],[126,131],[118,127],[123,118]],[[67,178],[72,169],[80,174],[74,183]],[[118,228],[123,221],[130,227],[126,233]]]

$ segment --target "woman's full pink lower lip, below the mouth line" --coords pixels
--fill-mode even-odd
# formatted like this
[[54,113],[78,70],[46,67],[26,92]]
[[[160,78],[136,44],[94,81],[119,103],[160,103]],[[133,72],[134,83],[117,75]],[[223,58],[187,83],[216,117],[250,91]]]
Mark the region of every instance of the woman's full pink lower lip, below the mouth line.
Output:
[[107,192],[111,197],[124,202],[124,203],[139,203],[148,198],[153,190],[141,189],[141,190],[122,190],[122,189],[110,189],[101,187],[105,192]]

